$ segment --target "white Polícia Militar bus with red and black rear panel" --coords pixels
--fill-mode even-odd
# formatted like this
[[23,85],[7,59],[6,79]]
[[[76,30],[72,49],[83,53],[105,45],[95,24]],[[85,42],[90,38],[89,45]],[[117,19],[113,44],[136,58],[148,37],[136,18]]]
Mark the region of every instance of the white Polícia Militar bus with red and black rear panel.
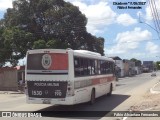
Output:
[[72,49],[37,49],[27,52],[27,103],[93,104],[115,89],[114,61],[99,53]]

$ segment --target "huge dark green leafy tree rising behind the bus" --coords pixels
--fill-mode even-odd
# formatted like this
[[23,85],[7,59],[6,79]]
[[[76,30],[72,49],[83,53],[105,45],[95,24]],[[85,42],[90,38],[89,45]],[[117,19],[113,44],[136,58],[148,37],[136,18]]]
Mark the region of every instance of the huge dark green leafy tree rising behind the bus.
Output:
[[0,42],[9,50],[4,59],[16,65],[28,49],[40,48],[86,49],[103,55],[104,38],[88,33],[86,24],[85,15],[69,2],[14,0],[0,22]]

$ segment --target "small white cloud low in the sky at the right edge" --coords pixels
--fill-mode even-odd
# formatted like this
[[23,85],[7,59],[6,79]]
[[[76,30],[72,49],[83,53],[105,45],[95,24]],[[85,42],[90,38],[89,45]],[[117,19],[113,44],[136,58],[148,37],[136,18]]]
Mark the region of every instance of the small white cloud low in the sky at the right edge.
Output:
[[147,42],[146,51],[149,53],[158,53],[160,49],[158,45],[154,44],[153,42]]

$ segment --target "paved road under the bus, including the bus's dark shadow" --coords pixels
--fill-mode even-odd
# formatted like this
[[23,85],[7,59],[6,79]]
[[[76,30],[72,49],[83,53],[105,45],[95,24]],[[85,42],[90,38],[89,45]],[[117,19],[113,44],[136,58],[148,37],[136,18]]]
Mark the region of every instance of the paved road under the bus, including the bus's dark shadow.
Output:
[[[160,75],[160,72],[158,72],[158,75]],[[12,95],[12,97],[10,97],[10,99],[7,101],[4,101],[4,100],[0,101],[0,106],[1,106],[0,110],[1,111],[4,111],[4,110],[6,111],[9,111],[9,110],[50,111],[50,112],[45,112],[46,118],[43,118],[45,120],[53,119],[52,118],[53,111],[104,111],[104,112],[101,112],[101,115],[96,118],[96,119],[101,119],[107,113],[105,111],[126,110],[127,107],[129,106],[125,105],[124,107],[123,104],[127,100],[129,100],[129,98],[131,98],[132,94],[135,93],[133,91],[136,91],[138,87],[142,88],[141,86],[143,86],[144,84],[150,85],[150,86],[149,85],[147,86],[147,89],[148,89],[149,87],[152,86],[152,84],[150,83],[152,83],[153,78],[155,77],[151,77],[150,73],[143,73],[133,77],[120,78],[119,81],[117,82],[117,87],[116,87],[116,90],[113,92],[113,95],[111,97],[103,96],[98,98],[94,105],[88,105],[87,103],[74,105],[74,106],[51,106],[51,105],[32,105],[32,104],[28,105],[25,103],[24,95],[20,95],[20,96]],[[87,114],[95,114],[95,112],[87,112]],[[63,114],[58,115],[58,117],[54,119],[66,119],[64,118],[65,115],[66,113],[63,112]],[[67,119],[70,119],[70,118],[67,118]],[[77,119],[77,118],[74,118],[74,119]]]

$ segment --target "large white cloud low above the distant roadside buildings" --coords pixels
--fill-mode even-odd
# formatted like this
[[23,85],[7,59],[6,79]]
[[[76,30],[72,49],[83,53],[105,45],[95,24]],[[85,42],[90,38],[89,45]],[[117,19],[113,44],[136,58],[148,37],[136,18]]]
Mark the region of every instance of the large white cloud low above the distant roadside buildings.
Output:
[[139,46],[139,43],[152,38],[148,30],[135,28],[133,31],[118,33],[116,37],[117,44],[110,49],[106,49],[107,54],[127,53]]

